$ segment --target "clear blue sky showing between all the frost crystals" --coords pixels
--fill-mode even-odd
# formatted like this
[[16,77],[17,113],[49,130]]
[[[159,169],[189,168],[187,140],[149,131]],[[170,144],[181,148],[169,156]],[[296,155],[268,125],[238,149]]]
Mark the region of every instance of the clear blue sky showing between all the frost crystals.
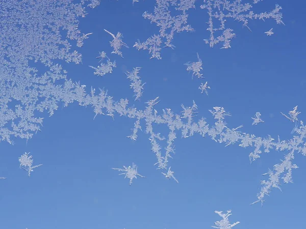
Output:
[[[294,124],[280,111],[288,113],[298,105],[300,120],[305,119],[305,36],[303,1],[294,4],[281,0],[264,1],[254,12],[283,7],[284,23],[274,20],[250,21],[250,32],[237,21],[228,25],[237,34],[231,49],[210,48],[203,42],[209,37],[206,31],[208,15],[199,8],[190,10],[190,24],[195,33],[175,34],[174,50],[162,50],[162,60],[150,60],[148,52],[137,51],[133,45],[140,39],[158,33],[158,27],[142,18],[144,11],[152,12],[154,1],[103,1],[80,19],[83,33],[93,33],[78,49],[83,54],[80,65],[65,64],[67,77],[81,81],[87,90],[105,88],[115,100],[127,98],[138,109],[144,102],[160,97],[156,106],[159,112],[171,108],[175,113],[181,104],[198,105],[198,117],[206,117],[210,125],[214,119],[208,111],[222,106],[232,114],[227,117],[228,127],[244,127],[241,131],[277,139],[290,139]],[[264,32],[273,27],[270,37]],[[111,54],[111,36],[103,29],[116,34],[130,46],[123,48],[124,59]],[[73,43],[73,42],[72,42]],[[106,51],[117,68],[104,77],[93,75],[97,66],[95,57]],[[203,62],[205,79],[191,79],[184,63],[196,61],[196,52]],[[142,67],[140,76],[144,85],[141,101],[134,102],[130,81],[124,74],[134,67]],[[201,82],[208,81],[209,96],[200,94]],[[259,111],[264,124],[251,126],[251,117]],[[260,191],[261,174],[283,159],[280,152],[263,154],[249,163],[251,148],[238,145],[224,148],[209,137],[195,135],[182,139],[178,133],[174,141],[176,154],[169,165],[179,184],[167,180],[156,170],[155,155],[150,151],[148,135],[139,133],[137,141],[126,138],[131,134],[134,120],[126,117],[97,116],[91,107],[77,104],[60,108],[52,118],[44,119],[42,131],[28,144],[15,139],[15,145],[1,142],[0,176],[0,228],[6,229],[186,229],[211,228],[221,218],[215,210],[232,209],[231,222],[241,223],[234,228],[248,229],[303,229],[306,228],[305,175],[306,158],[296,155],[293,170],[294,184],[282,186],[283,192],[273,190],[266,203],[250,206]],[[196,119],[197,119],[196,118]],[[157,127],[164,135],[165,127]],[[163,145],[164,147],[165,145]],[[18,157],[31,152],[36,168],[31,177],[19,169]],[[118,176],[112,167],[138,165],[145,179],[129,180]]]

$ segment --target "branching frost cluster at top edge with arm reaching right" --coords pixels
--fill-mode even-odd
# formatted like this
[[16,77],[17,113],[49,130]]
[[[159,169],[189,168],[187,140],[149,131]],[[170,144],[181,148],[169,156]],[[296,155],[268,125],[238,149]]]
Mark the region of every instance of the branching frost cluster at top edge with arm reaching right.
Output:
[[[255,0],[253,4],[257,4],[261,1]],[[201,9],[206,9],[209,15],[209,22],[207,30],[210,32],[210,38],[205,39],[205,42],[213,47],[219,42],[223,42],[222,48],[230,48],[231,41],[235,37],[233,30],[225,26],[228,18],[232,18],[236,21],[243,22],[243,26],[248,27],[248,20],[254,19],[275,19],[277,24],[283,23],[282,13],[280,12],[282,7],[279,5],[275,6],[275,9],[270,12],[255,14],[251,11],[252,5],[249,3],[242,3],[242,0],[204,0],[204,4],[201,5]],[[214,24],[214,20],[220,22],[219,25]],[[284,24],[284,23],[283,23]],[[249,27],[248,27],[249,28]],[[222,32],[216,37],[217,32]]]

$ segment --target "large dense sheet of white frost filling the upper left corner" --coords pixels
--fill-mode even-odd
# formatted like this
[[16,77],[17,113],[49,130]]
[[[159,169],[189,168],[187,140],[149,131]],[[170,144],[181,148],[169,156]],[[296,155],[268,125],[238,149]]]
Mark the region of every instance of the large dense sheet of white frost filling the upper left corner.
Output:
[[[65,71],[54,60],[78,64],[81,54],[70,50],[67,39],[83,45],[89,34],[81,34],[78,18],[85,17],[84,4],[99,1],[0,1],[0,141],[13,143],[11,136],[29,139],[40,130],[42,118],[37,111],[48,110],[50,116],[73,90]],[[61,31],[67,37],[62,39]],[[49,71],[37,75],[30,61],[40,62]],[[72,83],[72,82],[71,82]],[[58,85],[57,85],[58,84]],[[74,88],[75,89],[75,88]],[[71,98],[66,97],[66,102]],[[65,99],[64,99],[65,100]],[[17,105],[10,105],[10,103]],[[65,103],[65,102],[64,102]]]

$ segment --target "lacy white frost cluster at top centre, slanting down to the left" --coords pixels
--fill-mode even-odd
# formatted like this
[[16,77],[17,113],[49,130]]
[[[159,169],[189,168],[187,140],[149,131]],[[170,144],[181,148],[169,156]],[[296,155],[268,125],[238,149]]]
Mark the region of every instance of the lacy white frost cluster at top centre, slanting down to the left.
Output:
[[[195,0],[156,0],[154,13],[144,12],[143,17],[149,19],[151,23],[156,23],[160,28],[160,34],[154,34],[145,42],[136,42],[134,47],[138,50],[148,49],[151,58],[161,59],[161,44],[165,47],[174,48],[172,44],[175,33],[192,32],[193,28],[187,24],[189,9],[195,8]],[[171,15],[169,8],[174,7],[176,15]],[[177,13],[179,12],[179,13]]]

